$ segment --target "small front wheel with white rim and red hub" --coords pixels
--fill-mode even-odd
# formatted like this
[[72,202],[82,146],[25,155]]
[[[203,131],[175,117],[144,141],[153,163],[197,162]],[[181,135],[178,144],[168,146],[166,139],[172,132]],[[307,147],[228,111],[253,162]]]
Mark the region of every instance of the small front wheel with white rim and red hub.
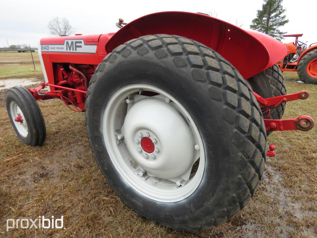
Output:
[[5,102],[11,124],[20,140],[30,146],[42,145],[46,127],[40,107],[29,90],[8,89]]

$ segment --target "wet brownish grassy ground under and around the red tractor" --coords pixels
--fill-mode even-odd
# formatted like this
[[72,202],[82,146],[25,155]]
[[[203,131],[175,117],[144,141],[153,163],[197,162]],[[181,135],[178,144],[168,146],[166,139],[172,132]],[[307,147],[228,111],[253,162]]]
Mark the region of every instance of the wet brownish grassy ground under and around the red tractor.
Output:
[[[18,53],[26,54],[26,53]],[[296,83],[284,73],[288,93],[308,90],[307,100],[288,102],[284,118],[317,118],[317,85]],[[140,217],[118,198],[94,161],[84,113],[60,100],[39,101],[46,122],[43,146],[31,148],[17,138],[0,91],[1,237],[317,237],[317,129],[274,132],[268,143],[277,155],[251,202],[233,219],[199,232],[165,229]],[[13,229],[8,218],[64,215],[65,229]]]

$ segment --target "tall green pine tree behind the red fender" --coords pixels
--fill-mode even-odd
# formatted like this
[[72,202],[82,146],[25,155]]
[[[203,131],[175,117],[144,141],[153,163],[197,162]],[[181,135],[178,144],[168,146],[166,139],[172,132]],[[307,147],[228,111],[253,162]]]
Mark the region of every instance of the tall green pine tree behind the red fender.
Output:
[[286,15],[283,15],[286,9],[282,6],[283,0],[264,0],[262,10],[257,10],[256,18],[252,20],[250,28],[261,31],[277,39],[283,39],[283,34],[279,27],[288,23]]

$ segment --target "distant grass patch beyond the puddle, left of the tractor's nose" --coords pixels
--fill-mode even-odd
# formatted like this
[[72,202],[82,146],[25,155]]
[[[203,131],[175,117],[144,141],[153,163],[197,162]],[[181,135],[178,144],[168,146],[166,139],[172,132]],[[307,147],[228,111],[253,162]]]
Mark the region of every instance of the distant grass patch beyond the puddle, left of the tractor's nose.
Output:
[[30,52],[0,52],[0,79],[42,77],[39,55],[37,52],[32,54],[36,70]]

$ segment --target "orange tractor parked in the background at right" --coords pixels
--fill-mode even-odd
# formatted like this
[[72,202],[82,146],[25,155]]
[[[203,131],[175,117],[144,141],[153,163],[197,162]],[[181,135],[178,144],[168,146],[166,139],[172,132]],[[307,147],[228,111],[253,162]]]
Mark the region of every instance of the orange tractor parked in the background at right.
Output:
[[308,46],[298,40],[303,34],[283,35],[284,37],[295,37],[295,42],[286,43],[287,54],[278,63],[281,71],[298,73],[304,83],[317,84],[317,42]]

